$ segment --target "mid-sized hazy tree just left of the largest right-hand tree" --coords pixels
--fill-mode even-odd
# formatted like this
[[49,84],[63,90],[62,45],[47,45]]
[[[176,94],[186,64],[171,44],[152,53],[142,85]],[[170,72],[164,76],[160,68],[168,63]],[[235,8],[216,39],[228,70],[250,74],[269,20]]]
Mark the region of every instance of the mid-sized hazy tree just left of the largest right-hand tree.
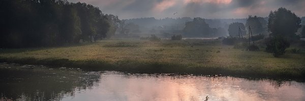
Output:
[[247,22],[246,22],[247,30],[249,31],[249,26],[250,26],[252,28],[251,31],[253,34],[261,34],[264,31],[263,25],[261,22],[264,22],[264,19],[262,17],[249,16],[249,18],[247,19]]

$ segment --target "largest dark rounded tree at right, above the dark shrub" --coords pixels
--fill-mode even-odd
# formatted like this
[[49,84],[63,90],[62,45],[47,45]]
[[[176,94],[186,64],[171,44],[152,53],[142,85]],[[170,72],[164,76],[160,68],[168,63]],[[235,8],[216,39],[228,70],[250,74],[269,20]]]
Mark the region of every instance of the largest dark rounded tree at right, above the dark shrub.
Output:
[[289,39],[295,37],[295,32],[300,28],[300,18],[290,10],[279,8],[270,12],[268,19],[268,30],[271,36],[283,36]]

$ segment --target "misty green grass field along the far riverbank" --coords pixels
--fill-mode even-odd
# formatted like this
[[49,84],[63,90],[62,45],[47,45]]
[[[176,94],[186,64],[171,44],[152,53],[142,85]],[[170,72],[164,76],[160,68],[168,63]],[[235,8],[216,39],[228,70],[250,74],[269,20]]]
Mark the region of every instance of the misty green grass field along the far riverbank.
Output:
[[1,49],[0,62],[67,66],[132,73],[180,73],[235,77],[305,78],[305,54],[275,58],[223,45],[214,39],[102,40],[52,48]]

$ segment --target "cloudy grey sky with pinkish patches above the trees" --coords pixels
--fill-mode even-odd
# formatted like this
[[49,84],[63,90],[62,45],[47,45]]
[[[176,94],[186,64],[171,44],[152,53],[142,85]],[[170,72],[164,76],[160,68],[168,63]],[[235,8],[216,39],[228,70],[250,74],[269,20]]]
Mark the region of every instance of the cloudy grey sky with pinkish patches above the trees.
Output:
[[[305,0],[68,0],[99,7],[104,14],[119,19],[155,17],[201,17],[205,19],[267,17],[284,7],[297,16],[305,16]],[[174,13],[177,13],[174,15]]]

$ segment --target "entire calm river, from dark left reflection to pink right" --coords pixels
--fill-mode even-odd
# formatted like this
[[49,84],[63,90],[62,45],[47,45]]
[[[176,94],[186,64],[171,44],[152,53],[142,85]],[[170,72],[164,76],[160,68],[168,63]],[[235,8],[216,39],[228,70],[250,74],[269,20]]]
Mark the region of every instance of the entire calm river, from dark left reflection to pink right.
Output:
[[0,66],[0,100],[305,100],[295,81]]

